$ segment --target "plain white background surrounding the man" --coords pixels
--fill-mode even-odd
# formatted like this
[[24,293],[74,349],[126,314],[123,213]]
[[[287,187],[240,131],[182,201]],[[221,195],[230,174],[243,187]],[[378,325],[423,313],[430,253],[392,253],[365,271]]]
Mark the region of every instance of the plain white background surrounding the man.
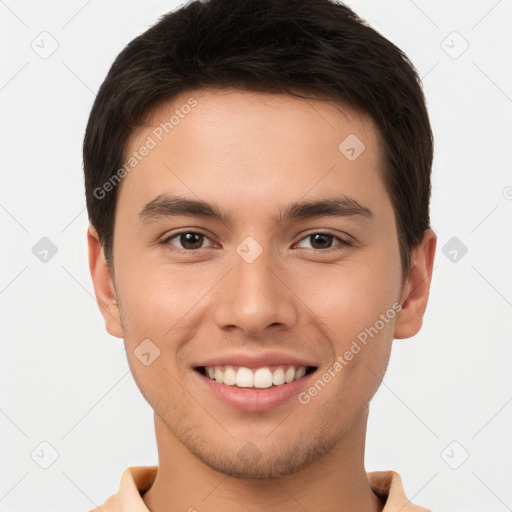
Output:
[[[81,144],[115,56],[177,5],[0,2],[3,512],[87,511],[126,467],[157,464],[152,410],[93,296]],[[418,68],[436,139],[430,304],[421,333],[395,341],[367,470],[398,471],[439,512],[511,510],[512,1],[349,5]],[[44,31],[58,43],[47,59],[31,47],[56,44]],[[57,247],[46,263],[42,237]],[[452,237],[468,249],[456,262]]]

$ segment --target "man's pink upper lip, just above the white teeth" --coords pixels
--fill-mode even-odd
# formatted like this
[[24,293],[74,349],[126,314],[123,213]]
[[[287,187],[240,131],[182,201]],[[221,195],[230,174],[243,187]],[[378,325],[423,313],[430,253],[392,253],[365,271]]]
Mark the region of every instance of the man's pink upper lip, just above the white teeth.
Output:
[[193,364],[194,368],[208,366],[244,366],[247,368],[261,368],[264,366],[316,366],[306,358],[297,357],[295,355],[283,352],[263,352],[260,354],[251,354],[247,352],[230,352],[221,354],[209,359],[204,359],[197,364]]

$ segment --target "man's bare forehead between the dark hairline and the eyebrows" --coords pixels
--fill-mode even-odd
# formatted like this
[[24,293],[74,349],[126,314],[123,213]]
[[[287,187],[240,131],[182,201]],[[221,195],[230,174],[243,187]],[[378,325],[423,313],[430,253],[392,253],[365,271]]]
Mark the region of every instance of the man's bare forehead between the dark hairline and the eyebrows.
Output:
[[134,132],[125,156],[139,160],[121,182],[121,202],[172,191],[243,203],[249,213],[287,196],[342,192],[364,201],[385,194],[371,117],[289,94],[185,92]]

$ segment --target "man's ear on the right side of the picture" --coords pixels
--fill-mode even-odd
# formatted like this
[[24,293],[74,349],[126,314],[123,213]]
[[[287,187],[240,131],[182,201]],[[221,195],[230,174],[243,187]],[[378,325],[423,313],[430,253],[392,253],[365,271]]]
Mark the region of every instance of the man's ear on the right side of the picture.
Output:
[[428,229],[412,251],[411,269],[400,297],[402,309],[395,322],[395,338],[410,338],[421,329],[432,281],[436,244],[435,233]]

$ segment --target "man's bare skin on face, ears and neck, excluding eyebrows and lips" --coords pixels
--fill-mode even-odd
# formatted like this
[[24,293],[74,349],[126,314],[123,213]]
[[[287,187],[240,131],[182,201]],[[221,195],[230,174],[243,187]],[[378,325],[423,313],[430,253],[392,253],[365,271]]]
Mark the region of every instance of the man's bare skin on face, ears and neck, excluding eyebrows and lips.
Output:
[[[226,512],[241,502],[250,511],[382,510],[363,464],[368,404],[393,338],[421,328],[436,237],[425,233],[404,279],[378,130],[369,116],[331,102],[189,91],[134,133],[128,153],[191,96],[197,106],[120,184],[112,269],[95,229],[88,232],[107,331],[124,338],[155,411],[159,471],[143,500],[156,512]],[[366,146],[354,161],[338,149],[349,134]],[[142,221],[144,206],[164,193],[214,203],[232,222]],[[274,220],[296,201],[340,193],[372,217]],[[179,252],[190,251],[183,237],[169,239],[182,230],[206,235],[192,255]],[[315,233],[334,238],[315,243]],[[236,252],[248,236],[263,249],[252,263]],[[321,376],[397,303],[401,311],[307,404],[293,397],[240,411],[198,384],[198,361],[232,351],[296,355]],[[134,355],[145,339],[160,350],[149,366]]]

